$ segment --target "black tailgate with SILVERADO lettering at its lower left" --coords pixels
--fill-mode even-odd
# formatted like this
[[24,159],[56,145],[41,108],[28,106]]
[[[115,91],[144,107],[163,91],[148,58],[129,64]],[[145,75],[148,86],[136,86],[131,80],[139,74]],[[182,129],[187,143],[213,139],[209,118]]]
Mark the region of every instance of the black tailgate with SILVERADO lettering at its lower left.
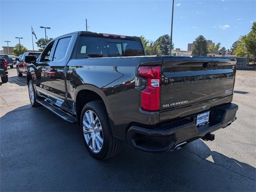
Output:
[[235,65],[231,58],[163,57],[160,110],[232,95]]

